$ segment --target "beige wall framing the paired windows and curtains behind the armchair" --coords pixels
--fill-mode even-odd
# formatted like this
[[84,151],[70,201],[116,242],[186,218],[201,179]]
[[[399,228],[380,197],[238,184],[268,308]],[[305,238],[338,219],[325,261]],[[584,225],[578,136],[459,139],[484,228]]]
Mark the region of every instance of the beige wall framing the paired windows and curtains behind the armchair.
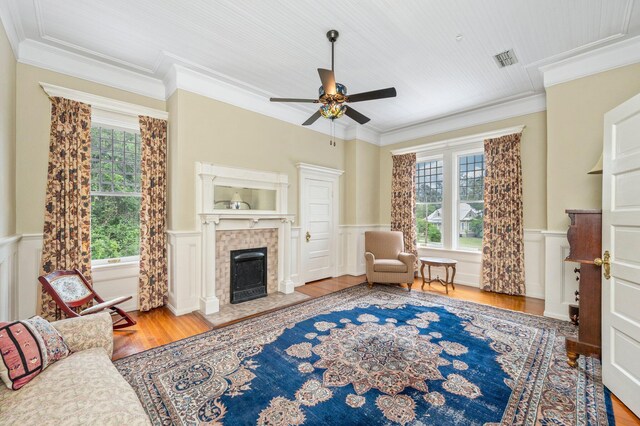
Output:
[[382,147],[380,151],[380,223],[391,221],[391,151],[524,124],[522,181],[524,226],[546,229],[546,114],[539,112]]

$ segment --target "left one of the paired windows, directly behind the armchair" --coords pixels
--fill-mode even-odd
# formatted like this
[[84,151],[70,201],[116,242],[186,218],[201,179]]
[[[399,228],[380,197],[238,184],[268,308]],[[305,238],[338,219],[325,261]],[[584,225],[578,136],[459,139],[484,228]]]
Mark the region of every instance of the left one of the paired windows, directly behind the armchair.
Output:
[[442,246],[442,160],[416,163],[418,243]]

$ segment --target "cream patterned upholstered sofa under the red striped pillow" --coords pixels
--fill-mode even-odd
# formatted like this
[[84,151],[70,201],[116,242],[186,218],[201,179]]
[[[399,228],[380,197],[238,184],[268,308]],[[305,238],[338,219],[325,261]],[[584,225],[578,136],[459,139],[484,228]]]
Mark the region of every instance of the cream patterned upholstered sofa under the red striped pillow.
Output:
[[0,424],[150,424],[136,393],[111,362],[110,315],[104,312],[52,324],[72,353],[19,390],[0,383]]

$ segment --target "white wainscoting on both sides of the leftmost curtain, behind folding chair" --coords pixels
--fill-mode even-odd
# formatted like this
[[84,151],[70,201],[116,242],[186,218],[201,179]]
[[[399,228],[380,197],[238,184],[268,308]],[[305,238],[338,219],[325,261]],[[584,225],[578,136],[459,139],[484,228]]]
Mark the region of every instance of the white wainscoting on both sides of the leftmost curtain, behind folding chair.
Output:
[[[18,244],[17,318],[36,314],[38,302],[38,276],[42,258],[42,234],[24,234]],[[137,262],[100,265],[92,268],[93,286],[103,299],[133,296],[120,305],[125,311],[138,309]]]

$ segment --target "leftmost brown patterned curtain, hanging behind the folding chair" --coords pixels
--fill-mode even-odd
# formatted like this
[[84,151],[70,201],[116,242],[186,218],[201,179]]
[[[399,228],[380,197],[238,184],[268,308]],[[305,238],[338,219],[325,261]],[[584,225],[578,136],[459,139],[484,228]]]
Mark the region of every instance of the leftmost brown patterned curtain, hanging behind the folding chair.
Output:
[[[40,274],[78,268],[91,283],[91,106],[51,99],[48,170]],[[61,316],[44,290],[40,315]]]

